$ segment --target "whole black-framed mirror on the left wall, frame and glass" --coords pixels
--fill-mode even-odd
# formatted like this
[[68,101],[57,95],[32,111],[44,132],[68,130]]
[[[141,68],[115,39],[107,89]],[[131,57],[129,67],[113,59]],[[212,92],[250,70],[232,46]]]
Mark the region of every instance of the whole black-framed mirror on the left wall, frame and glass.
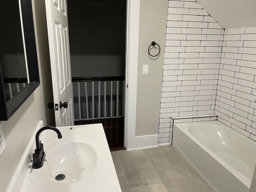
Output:
[[1,1],[0,23],[2,121],[8,120],[40,84],[32,1]]

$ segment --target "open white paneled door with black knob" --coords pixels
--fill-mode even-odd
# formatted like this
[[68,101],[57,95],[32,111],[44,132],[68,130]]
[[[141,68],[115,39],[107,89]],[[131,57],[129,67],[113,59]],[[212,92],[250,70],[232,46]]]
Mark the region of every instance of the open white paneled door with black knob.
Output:
[[[56,126],[74,125],[66,0],[45,0]],[[66,106],[62,106],[67,102]],[[67,108],[66,108],[67,107]]]

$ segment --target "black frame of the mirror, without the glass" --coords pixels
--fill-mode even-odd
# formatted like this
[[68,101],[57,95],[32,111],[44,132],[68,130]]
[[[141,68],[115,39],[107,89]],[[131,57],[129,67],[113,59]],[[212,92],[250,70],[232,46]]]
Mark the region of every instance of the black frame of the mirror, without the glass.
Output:
[[[18,1],[18,0],[17,0]],[[32,0],[20,0],[30,83],[6,101],[0,63],[0,121],[8,120],[40,85]]]

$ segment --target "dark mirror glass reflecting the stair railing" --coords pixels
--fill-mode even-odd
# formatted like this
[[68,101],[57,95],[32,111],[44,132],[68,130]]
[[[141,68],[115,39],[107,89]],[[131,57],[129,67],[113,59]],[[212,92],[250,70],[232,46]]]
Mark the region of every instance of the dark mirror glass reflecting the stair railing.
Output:
[[18,0],[0,2],[0,66],[6,101],[28,84]]

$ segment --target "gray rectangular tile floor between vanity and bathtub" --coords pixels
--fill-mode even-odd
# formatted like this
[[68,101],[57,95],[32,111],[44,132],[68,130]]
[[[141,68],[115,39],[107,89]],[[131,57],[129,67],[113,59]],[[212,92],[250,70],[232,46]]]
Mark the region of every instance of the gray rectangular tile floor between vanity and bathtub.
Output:
[[111,155],[122,192],[212,192],[172,146]]

